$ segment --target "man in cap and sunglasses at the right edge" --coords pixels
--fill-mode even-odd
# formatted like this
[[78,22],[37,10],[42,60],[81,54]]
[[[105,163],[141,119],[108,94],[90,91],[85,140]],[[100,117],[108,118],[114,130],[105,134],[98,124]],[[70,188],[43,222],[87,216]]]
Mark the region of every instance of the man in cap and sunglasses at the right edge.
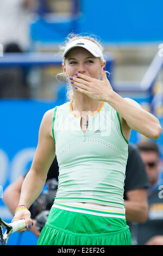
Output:
[[150,187],[148,188],[148,219],[145,223],[137,223],[133,236],[137,238],[137,245],[163,245],[163,185],[160,179],[159,147],[153,141],[141,142],[137,147],[145,163]]

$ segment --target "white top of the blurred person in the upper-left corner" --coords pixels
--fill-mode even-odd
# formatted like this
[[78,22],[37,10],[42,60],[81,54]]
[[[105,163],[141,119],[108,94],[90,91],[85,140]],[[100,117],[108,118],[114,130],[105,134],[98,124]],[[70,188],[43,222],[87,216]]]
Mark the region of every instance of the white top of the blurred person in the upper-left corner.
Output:
[[1,0],[0,44],[4,48],[16,44],[22,52],[30,47],[30,15],[36,0]]

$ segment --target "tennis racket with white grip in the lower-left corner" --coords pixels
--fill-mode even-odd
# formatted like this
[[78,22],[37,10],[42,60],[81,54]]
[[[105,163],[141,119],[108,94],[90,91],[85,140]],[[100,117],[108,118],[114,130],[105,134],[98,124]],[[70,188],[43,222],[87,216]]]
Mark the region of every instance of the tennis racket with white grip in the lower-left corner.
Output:
[[[26,227],[25,220],[19,220],[11,223],[7,223],[0,218],[0,240],[1,245],[7,245],[9,236],[22,228]],[[5,233],[3,233],[3,228],[5,228]]]

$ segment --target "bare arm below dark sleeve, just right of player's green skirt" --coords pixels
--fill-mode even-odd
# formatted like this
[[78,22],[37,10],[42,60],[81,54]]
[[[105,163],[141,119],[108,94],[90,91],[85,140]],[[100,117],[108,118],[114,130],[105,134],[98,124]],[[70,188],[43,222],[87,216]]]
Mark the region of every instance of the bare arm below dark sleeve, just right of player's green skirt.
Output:
[[126,220],[143,223],[148,217],[147,192],[144,188],[131,190],[126,193],[128,200],[124,200]]

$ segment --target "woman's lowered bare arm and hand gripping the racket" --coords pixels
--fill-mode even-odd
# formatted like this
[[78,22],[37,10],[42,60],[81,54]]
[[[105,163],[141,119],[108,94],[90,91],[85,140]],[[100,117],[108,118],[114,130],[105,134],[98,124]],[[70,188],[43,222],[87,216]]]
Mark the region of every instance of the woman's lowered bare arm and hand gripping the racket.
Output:
[[[49,167],[55,157],[55,145],[52,136],[52,119],[53,110],[46,112],[43,116],[36,153],[32,167],[23,181],[18,205],[27,205],[29,208],[39,196],[45,185]],[[24,209],[17,211],[12,221],[20,220],[20,218],[26,220],[27,227],[28,224],[31,224],[29,211]]]

